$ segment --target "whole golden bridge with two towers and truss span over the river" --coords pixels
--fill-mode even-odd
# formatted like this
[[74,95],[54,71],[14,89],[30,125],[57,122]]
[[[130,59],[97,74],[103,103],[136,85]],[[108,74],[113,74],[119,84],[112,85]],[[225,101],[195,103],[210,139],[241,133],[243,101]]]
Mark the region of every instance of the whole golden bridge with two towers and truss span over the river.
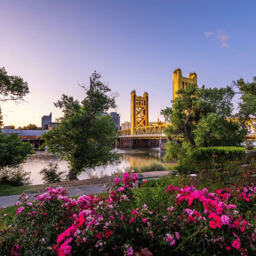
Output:
[[[177,97],[177,90],[186,88],[192,83],[197,83],[195,72],[191,72],[189,77],[183,77],[180,68],[175,69],[173,72],[174,98]],[[117,131],[121,148],[160,147],[161,150],[165,148],[167,138],[164,128],[169,124],[159,122],[159,120],[149,123],[148,98],[147,92],[144,92],[143,96],[137,96],[135,90],[131,92],[131,128]],[[237,118],[232,120],[240,122]],[[245,125],[248,129],[246,139],[256,140],[256,118],[250,118]]]

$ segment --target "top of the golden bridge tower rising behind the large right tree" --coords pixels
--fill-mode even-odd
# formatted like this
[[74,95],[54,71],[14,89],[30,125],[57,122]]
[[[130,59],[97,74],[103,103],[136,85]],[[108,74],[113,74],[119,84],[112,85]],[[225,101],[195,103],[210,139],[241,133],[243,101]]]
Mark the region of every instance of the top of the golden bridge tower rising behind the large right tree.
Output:
[[177,97],[176,92],[181,88],[186,88],[188,84],[197,84],[197,74],[195,71],[189,72],[188,77],[182,76],[181,69],[173,71],[173,99]]

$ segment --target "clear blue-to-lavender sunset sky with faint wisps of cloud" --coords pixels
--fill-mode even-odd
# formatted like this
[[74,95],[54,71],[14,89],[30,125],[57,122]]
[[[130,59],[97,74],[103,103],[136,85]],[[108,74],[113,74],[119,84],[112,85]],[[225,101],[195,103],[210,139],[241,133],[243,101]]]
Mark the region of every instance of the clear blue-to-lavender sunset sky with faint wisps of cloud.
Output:
[[[256,1],[0,0],[0,67],[28,82],[27,103],[1,103],[4,125],[62,116],[62,94],[82,101],[96,70],[130,121],[130,95],[149,94],[149,121],[171,107],[180,67],[220,88],[256,76]],[[235,102],[239,99],[236,98]],[[236,103],[235,103],[236,104]]]

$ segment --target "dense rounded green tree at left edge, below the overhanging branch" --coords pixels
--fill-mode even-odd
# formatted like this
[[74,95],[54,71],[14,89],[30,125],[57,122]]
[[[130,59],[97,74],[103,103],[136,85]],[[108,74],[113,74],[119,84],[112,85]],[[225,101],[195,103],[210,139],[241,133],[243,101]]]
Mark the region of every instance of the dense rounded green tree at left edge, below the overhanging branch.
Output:
[[6,135],[0,132],[0,168],[12,167],[26,161],[28,155],[34,154],[28,142],[22,142],[16,133]]

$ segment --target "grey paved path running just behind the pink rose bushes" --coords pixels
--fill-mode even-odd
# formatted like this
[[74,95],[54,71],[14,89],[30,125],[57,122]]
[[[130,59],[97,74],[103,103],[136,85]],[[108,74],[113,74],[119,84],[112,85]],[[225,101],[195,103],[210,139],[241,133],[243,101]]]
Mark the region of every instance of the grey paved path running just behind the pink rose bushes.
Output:
[[[92,187],[83,187],[83,188],[73,188],[69,189],[69,197],[81,196],[81,195],[90,195],[90,194],[98,194],[105,191],[105,187],[103,186],[92,186]],[[45,191],[41,192],[41,194],[45,193]],[[26,194],[33,198],[36,194]],[[20,195],[14,196],[3,196],[0,197],[0,208],[4,206],[13,206],[18,202]]]

